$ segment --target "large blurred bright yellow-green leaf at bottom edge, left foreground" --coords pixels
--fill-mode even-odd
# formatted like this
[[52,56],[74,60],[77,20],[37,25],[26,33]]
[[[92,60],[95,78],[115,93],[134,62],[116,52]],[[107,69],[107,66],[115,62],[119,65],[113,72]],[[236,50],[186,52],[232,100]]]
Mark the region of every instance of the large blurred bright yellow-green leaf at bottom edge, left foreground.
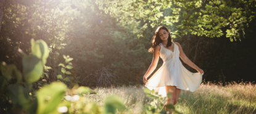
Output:
[[38,110],[36,113],[58,113],[57,107],[64,97],[67,86],[64,83],[51,83],[36,92]]

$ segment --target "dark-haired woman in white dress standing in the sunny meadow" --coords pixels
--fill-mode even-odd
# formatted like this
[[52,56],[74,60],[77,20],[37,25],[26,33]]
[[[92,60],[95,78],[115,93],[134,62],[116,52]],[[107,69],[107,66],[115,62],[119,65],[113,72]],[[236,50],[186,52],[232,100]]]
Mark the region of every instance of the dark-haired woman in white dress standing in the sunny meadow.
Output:
[[[147,88],[154,89],[154,92],[158,92],[160,96],[166,97],[169,92],[171,97],[167,98],[167,104],[175,105],[178,102],[181,89],[193,92],[199,88],[204,71],[186,57],[179,43],[172,42],[170,31],[165,26],[159,26],[155,30],[149,52],[152,52],[154,57],[143,81]],[[163,60],[163,65],[147,80],[147,77],[157,67],[159,56]],[[182,65],[179,57],[184,63],[196,69],[198,73],[188,71]]]

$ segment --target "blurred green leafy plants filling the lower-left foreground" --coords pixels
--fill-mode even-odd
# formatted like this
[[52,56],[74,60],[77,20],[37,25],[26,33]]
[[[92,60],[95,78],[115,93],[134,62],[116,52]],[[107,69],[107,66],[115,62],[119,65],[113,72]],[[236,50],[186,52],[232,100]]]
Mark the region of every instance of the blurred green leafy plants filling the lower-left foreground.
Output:
[[[73,86],[72,89],[68,89],[67,85],[61,82],[43,86],[36,91],[35,96],[32,96],[32,83],[41,78],[49,51],[44,41],[34,41],[34,39],[31,39],[31,51],[31,55],[27,55],[19,49],[22,54],[23,76],[15,65],[1,63],[0,92],[3,94],[0,96],[4,102],[1,108],[3,107],[6,113],[115,113],[117,110],[126,109],[122,99],[109,96],[105,99],[104,110],[102,110],[97,104],[83,97],[84,94],[95,94],[91,89],[83,86]],[[68,65],[60,65],[71,69],[72,59],[69,57],[65,59]],[[70,74],[66,70],[62,72]]]

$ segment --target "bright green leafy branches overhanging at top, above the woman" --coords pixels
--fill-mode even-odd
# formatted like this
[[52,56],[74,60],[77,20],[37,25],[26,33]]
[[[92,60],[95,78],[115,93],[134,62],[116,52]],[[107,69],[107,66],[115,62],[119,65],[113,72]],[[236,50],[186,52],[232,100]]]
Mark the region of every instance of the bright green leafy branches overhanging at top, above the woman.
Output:
[[[117,4],[119,3],[119,4]],[[151,26],[160,24],[173,25],[173,38],[181,35],[206,37],[220,37],[224,35],[222,28],[226,29],[226,37],[241,40],[245,35],[244,28],[248,23],[255,22],[255,1],[105,1],[98,0],[100,9],[109,12],[127,25],[136,22],[136,19],[149,20]],[[250,9],[250,10],[249,10]]]

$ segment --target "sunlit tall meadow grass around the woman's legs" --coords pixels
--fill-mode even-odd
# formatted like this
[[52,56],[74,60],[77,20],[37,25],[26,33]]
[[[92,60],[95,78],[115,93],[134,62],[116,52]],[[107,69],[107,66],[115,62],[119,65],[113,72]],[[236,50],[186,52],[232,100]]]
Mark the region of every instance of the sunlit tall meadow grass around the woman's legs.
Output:
[[[166,98],[152,99],[147,97],[143,86],[128,86],[117,88],[97,88],[96,95],[86,95],[99,106],[109,95],[119,96],[125,101],[128,113],[151,113],[148,110],[160,112]],[[225,87],[217,84],[201,84],[195,92],[181,91],[176,110],[181,113],[256,113],[256,85],[233,83]],[[120,112],[119,112],[120,113]]]

